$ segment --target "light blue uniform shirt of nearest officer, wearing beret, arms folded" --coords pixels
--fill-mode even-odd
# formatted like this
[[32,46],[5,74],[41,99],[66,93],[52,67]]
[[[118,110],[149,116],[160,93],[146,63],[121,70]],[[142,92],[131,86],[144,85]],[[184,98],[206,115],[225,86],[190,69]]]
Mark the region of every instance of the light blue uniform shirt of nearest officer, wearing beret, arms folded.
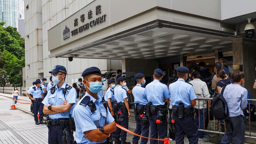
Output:
[[[92,100],[95,103],[96,111],[91,112],[88,106],[84,107],[80,105],[80,102],[84,99],[85,96],[90,97],[90,101]],[[90,141],[84,137],[84,133],[86,131],[97,129],[100,126],[104,126],[105,122],[107,124],[112,123],[114,118],[111,116],[110,112],[108,111],[108,115],[106,112],[106,108],[104,107],[103,103],[101,102],[102,99],[97,95],[97,100],[93,98],[87,92],[85,93],[84,97],[79,100],[76,107],[73,111],[74,120],[76,123],[76,143],[78,144],[97,144],[97,143],[104,143],[106,140],[95,142]]]

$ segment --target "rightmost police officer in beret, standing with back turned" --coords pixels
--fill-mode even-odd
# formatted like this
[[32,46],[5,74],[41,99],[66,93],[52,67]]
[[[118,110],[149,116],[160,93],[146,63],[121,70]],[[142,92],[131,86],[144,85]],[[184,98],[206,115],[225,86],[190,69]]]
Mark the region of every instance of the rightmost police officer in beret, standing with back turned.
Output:
[[198,130],[194,119],[195,110],[193,108],[196,105],[196,94],[193,86],[185,82],[188,78],[188,71],[187,67],[178,67],[177,75],[179,79],[169,85],[177,144],[184,143],[185,134],[190,144],[198,143]]

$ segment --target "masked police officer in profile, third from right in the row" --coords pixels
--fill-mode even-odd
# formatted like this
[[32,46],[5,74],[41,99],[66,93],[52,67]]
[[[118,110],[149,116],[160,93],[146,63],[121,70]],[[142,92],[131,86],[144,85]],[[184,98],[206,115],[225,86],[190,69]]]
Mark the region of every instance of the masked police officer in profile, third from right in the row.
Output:
[[[134,133],[141,134],[141,136],[148,137],[149,134],[149,121],[146,116],[146,104],[148,103],[145,87],[143,85],[146,83],[145,75],[142,73],[137,73],[134,75],[137,82],[136,86],[132,89],[132,94],[134,96],[134,114],[136,121],[136,129]],[[138,144],[140,140],[139,136],[134,135],[132,139],[133,144]],[[140,144],[146,144],[148,139],[141,138]]]

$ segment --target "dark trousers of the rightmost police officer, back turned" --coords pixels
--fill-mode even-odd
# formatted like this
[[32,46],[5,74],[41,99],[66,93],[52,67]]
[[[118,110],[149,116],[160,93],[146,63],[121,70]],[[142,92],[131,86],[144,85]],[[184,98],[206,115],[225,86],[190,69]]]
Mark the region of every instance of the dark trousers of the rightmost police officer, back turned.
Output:
[[173,116],[175,121],[175,141],[176,144],[184,144],[184,136],[186,134],[189,144],[198,143],[198,129],[194,116],[187,116],[180,119],[178,116]]

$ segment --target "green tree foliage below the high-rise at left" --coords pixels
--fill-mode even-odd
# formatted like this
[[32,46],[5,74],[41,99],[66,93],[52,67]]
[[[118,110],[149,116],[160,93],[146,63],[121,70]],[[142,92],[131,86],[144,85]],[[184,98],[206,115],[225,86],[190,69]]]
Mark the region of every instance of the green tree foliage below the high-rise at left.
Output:
[[20,70],[25,67],[25,43],[16,28],[0,22],[0,82],[20,85]]

